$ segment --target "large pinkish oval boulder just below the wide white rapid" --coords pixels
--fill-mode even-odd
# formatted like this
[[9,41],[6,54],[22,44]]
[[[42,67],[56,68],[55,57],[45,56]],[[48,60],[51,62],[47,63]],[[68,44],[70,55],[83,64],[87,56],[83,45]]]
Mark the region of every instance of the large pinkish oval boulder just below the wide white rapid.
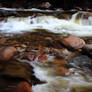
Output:
[[77,36],[70,35],[61,39],[61,43],[66,47],[80,49],[84,47],[85,41]]

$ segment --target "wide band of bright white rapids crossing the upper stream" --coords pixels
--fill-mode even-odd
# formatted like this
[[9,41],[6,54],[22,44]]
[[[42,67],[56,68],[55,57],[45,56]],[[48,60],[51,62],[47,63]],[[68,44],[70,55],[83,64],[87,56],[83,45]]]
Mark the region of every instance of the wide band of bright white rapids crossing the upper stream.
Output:
[[9,17],[7,21],[0,22],[0,31],[2,33],[21,33],[27,31],[34,31],[33,29],[46,29],[53,33],[68,33],[77,36],[92,36],[92,17],[88,19],[76,19],[76,13],[71,19],[58,19],[53,16],[40,16],[32,18],[31,16],[25,18]]

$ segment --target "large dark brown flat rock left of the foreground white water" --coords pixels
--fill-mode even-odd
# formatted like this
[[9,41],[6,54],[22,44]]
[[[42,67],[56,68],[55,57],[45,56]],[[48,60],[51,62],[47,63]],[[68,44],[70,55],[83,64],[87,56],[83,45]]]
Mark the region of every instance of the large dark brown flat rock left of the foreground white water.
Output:
[[0,71],[1,76],[8,76],[10,78],[19,78],[31,82],[33,76],[32,67],[27,63],[20,63],[18,61],[10,61],[3,66]]

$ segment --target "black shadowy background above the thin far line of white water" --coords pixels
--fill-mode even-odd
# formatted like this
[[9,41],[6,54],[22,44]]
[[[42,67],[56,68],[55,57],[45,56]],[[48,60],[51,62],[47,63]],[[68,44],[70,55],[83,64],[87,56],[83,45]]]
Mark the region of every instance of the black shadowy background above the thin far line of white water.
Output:
[[12,8],[33,8],[38,7],[42,2],[50,2],[50,8],[82,9],[92,8],[92,0],[0,0],[0,7]]

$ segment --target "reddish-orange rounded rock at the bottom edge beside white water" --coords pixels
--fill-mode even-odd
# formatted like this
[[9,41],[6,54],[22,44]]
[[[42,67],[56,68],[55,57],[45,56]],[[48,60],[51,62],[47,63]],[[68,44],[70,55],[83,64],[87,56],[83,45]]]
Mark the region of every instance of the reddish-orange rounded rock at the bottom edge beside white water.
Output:
[[27,82],[20,82],[16,92],[32,92],[32,87]]

